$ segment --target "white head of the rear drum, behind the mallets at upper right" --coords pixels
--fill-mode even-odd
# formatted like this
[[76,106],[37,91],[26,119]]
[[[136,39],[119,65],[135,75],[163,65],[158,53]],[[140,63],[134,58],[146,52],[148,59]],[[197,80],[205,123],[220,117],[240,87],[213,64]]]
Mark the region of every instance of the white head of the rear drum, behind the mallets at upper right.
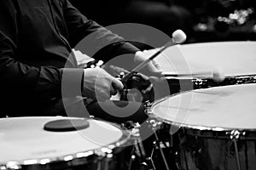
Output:
[[[149,50],[148,53],[154,53]],[[146,52],[147,53],[147,52]],[[155,60],[165,75],[222,71],[226,77],[256,74],[256,42],[205,42],[172,46]],[[209,75],[211,76],[211,75]]]

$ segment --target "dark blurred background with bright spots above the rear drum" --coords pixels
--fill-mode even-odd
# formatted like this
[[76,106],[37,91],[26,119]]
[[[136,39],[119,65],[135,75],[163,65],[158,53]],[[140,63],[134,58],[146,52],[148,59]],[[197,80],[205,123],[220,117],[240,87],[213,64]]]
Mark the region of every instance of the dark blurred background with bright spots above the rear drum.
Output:
[[255,0],[70,0],[102,26],[140,23],[182,29],[186,43],[256,40]]

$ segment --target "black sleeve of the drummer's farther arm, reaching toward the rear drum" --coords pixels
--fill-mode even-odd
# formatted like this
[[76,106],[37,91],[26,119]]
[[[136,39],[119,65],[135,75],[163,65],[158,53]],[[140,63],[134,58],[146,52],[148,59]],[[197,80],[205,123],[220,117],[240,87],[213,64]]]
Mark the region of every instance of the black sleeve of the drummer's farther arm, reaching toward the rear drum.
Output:
[[63,1],[64,18],[73,48],[93,56],[108,46],[108,49],[104,49],[104,57],[108,59],[121,54],[134,54],[139,50],[131,43],[125,42],[124,38],[98,25],[95,21],[88,20],[68,0]]

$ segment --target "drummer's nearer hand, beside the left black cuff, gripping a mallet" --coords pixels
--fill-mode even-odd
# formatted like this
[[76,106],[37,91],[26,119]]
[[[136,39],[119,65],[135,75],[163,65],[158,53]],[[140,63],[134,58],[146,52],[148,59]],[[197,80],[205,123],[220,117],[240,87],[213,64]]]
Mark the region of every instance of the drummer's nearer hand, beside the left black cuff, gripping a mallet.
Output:
[[101,68],[84,69],[84,87],[82,94],[91,99],[104,101],[110,99],[117,90],[124,88],[122,82]]

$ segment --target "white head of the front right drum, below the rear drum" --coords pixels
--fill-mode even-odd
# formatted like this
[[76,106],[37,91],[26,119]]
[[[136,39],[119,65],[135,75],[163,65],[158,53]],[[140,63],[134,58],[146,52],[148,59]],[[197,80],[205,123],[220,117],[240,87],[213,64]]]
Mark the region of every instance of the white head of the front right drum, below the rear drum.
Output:
[[151,114],[164,122],[205,129],[256,129],[256,84],[205,88],[154,103]]

